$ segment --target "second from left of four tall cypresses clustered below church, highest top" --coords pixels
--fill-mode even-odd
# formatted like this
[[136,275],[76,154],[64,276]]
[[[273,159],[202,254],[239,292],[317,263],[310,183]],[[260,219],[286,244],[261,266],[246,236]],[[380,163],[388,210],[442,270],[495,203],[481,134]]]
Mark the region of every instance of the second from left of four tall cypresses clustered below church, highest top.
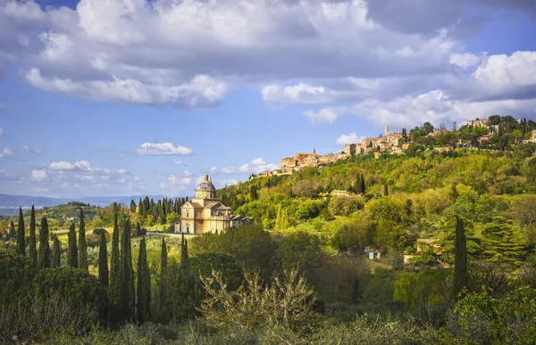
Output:
[[110,265],[110,289],[108,290],[108,300],[111,305],[110,316],[112,321],[121,321],[121,260],[119,252],[119,226],[117,224],[117,213],[113,215],[112,259]]

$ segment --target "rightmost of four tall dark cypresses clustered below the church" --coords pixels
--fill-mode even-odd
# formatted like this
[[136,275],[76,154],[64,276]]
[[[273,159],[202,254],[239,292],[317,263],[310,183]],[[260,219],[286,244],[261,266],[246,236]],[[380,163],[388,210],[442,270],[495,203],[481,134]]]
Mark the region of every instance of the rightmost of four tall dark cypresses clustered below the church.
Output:
[[144,323],[150,319],[151,308],[151,274],[147,265],[147,247],[145,237],[139,242],[138,255],[138,322]]

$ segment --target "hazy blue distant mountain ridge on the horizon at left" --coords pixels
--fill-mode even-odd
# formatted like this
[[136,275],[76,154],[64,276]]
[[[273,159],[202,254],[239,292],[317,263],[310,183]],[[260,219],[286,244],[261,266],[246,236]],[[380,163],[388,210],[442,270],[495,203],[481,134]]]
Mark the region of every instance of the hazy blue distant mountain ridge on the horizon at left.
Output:
[[[46,198],[41,196],[29,196],[29,195],[11,195],[0,194],[0,214],[3,213],[3,209],[13,209],[22,207],[23,209],[30,208],[31,205],[35,205],[37,208],[46,206],[57,206],[69,201],[80,201],[96,206],[108,206],[113,202],[119,202],[125,206],[130,206],[130,201],[134,200],[138,203],[139,198],[145,198],[146,195],[131,195],[131,196],[95,196],[85,198]],[[170,198],[165,195],[148,195],[149,199],[155,201],[163,198]]]

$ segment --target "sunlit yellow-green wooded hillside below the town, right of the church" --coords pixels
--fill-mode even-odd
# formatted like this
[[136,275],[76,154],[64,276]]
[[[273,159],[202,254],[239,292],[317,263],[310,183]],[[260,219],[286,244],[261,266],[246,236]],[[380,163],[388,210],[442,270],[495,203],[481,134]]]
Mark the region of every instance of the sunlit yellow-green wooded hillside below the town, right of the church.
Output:
[[318,234],[338,251],[415,253],[418,238],[435,238],[449,254],[457,214],[471,229],[473,258],[518,265],[532,253],[536,157],[524,148],[414,156],[354,156],[292,176],[251,179],[219,195],[264,228]]

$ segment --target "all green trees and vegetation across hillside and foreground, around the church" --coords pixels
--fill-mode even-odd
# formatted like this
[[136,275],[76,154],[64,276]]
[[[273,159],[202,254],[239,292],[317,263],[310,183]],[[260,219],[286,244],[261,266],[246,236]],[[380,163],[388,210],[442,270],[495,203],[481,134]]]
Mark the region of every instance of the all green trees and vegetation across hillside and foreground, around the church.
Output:
[[223,234],[144,235],[186,198],[4,219],[0,341],[534,343],[535,124],[490,119],[222,188],[255,219]]

